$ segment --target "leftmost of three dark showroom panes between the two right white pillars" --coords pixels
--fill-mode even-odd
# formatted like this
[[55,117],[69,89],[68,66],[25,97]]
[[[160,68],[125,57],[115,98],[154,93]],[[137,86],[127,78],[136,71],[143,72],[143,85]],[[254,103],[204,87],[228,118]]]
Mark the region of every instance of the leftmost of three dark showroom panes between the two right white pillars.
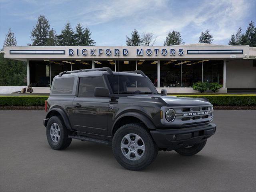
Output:
[[180,62],[160,61],[160,87],[180,87]]

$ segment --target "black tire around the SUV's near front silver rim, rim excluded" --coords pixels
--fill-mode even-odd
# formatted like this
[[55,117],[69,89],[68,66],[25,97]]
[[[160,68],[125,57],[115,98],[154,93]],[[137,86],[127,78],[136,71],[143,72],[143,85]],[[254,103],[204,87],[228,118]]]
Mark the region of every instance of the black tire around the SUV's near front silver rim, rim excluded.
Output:
[[[137,134],[144,142],[145,151],[138,160],[129,160],[124,156],[121,150],[121,142],[127,134]],[[155,160],[158,154],[158,147],[148,130],[146,130],[142,124],[132,123],[126,124],[116,131],[112,140],[112,151],[121,166],[128,170],[138,171],[146,168]]]

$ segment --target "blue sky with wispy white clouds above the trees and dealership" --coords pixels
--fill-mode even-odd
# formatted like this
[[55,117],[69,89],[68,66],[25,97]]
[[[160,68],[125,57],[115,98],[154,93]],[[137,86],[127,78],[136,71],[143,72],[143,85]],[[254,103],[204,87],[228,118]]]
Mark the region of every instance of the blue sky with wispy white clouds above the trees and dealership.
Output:
[[31,43],[30,32],[38,16],[60,34],[69,21],[92,32],[96,46],[125,46],[132,30],[153,32],[162,46],[169,31],[176,30],[185,44],[198,43],[206,29],[213,44],[228,44],[239,26],[256,25],[256,0],[0,0],[0,47],[11,28],[18,46]]

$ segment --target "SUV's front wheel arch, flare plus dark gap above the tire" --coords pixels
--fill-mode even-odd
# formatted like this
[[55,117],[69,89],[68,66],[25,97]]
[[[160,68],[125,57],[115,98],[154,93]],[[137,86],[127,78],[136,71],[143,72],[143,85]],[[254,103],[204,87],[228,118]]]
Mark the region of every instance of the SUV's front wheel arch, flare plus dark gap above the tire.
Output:
[[114,124],[113,124],[112,129],[111,129],[112,136],[114,136],[114,133],[121,126],[123,126],[125,124],[128,124],[128,123],[136,123],[136,122],[142,122],[146,126],[146,128],[148,128],[148,129],[156,129],[153,122],[148,117],[146,117],[144,114],[140,114],[138,112],[126,112],[126,113],[120,115],[114,121]]

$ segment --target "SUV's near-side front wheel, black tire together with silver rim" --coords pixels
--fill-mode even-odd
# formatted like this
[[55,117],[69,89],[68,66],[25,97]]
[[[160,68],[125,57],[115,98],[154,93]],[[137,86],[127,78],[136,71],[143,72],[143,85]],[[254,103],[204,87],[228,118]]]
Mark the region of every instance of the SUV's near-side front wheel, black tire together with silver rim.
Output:
[[134,171],[146,168],[158,154],[151,135],[138,123],[126,124],[116,131],[112,150],[121,166]]

